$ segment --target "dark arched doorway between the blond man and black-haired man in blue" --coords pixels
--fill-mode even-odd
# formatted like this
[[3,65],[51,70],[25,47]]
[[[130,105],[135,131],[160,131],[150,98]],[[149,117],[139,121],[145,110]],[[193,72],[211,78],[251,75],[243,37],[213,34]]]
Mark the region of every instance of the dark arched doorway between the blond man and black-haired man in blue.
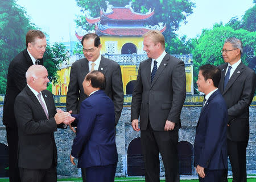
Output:
[[177,145],[180,175],[191,175],[193,166],[193,145],[187,141],[180,141]]

